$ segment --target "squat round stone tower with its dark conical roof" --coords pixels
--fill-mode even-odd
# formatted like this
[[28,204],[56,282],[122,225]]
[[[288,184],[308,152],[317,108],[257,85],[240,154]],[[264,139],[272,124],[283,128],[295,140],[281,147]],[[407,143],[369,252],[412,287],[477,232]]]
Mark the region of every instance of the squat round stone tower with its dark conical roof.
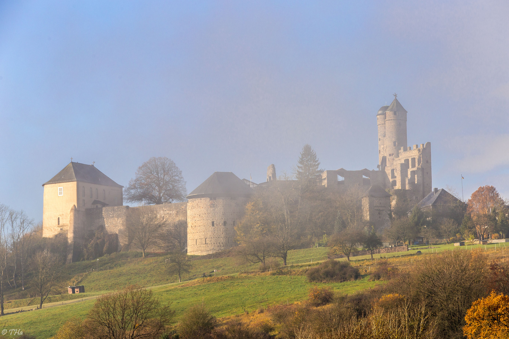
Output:
[[235,244],[235,225],[253,194],[232,172],[214,172],[187,202],[187,254],[205,255]]

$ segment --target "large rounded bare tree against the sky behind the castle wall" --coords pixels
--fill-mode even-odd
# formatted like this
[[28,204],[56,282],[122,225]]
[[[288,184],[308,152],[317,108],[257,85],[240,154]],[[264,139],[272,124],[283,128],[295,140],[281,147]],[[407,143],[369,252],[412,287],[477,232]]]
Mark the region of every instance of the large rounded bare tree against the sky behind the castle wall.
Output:
[[124,191],[126,201],[147,204],[183,201],[185,196],[182,171],[166,157],[152,157],[139,166]]

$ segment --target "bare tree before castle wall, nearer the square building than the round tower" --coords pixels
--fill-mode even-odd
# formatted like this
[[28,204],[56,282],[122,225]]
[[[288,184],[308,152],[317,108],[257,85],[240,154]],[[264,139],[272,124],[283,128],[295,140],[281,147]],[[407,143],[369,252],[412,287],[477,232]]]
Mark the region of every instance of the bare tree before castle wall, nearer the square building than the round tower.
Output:
[[154,210],[142,206],[129,209],[126,226],[131,244],[141,250],[145,258],[147,249],[158,243],[159,234],[167,226],[167,221]]

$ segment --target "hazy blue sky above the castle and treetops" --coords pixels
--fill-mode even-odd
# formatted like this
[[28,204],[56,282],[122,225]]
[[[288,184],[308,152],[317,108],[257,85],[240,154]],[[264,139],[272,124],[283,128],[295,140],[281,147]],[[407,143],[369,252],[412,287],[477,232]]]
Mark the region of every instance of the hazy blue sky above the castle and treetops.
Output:
[[509,198],[509,4],[497,1],[0,2],[0,202],[42,218],[41,184],[95,161],[127,186],[152,156],[188,192],[265,181],[305,143],[376,169],[392,93],[433,186]]

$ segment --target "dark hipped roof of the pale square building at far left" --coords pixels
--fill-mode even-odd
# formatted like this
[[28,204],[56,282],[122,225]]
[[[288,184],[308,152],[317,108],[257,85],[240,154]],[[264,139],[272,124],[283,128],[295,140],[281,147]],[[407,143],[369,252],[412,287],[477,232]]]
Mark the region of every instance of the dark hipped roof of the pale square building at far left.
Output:
[[43,183],[42,186],[48,183],[70,182],[70,181],[95,183],[103,186],[121,188],[123,187],[122,185],[119,185],[115,181],[108,178],[103,172],[99,171],[93,165],[86,165],[73,162],[64,167],[62,171],[60,171],[58,174],[52,177],[49,181]]

